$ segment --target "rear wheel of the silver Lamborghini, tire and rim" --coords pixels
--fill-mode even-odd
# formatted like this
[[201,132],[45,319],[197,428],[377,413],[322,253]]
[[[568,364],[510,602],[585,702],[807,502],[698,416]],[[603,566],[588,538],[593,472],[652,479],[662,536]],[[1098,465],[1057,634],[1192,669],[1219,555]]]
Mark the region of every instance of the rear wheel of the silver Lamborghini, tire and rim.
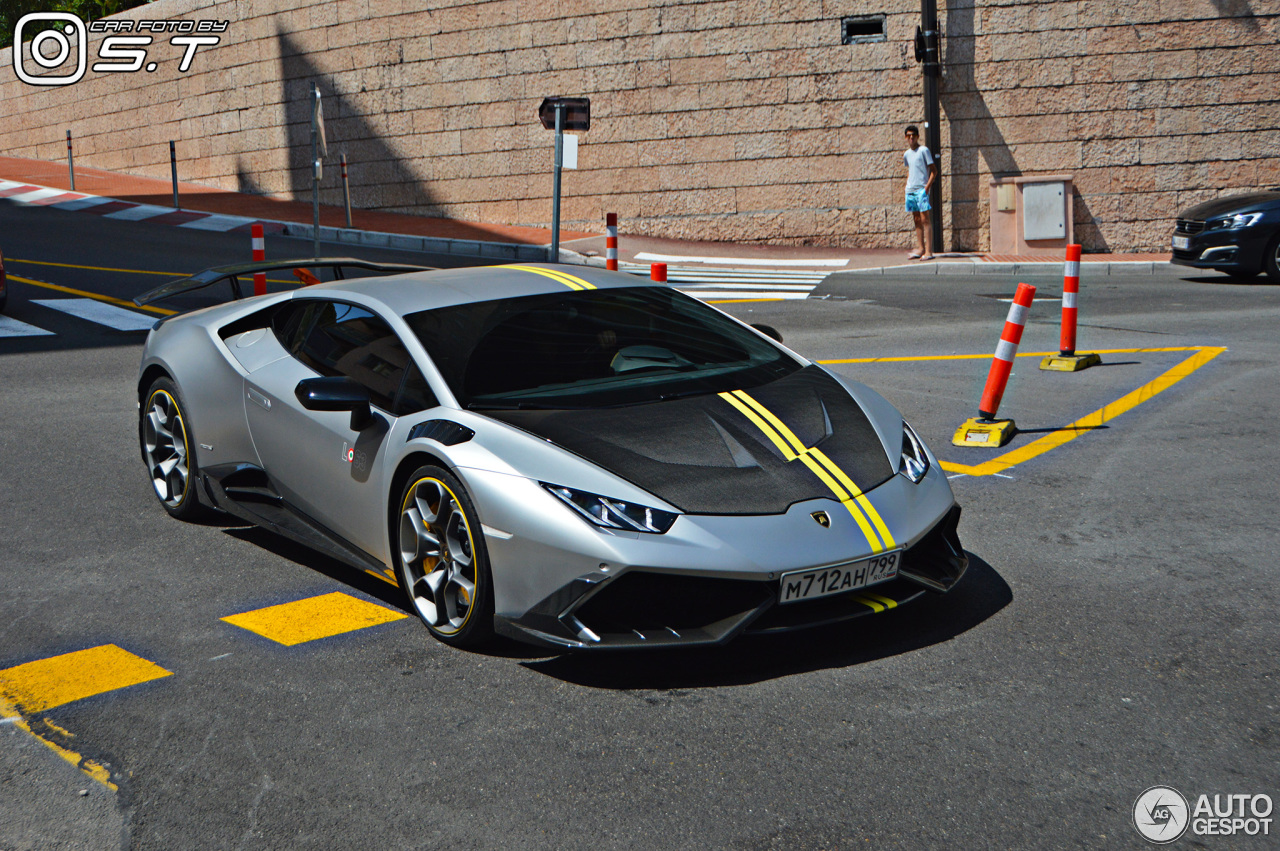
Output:
[[156,379],[138,411],[138,445],[147,466],[151,490],[166,512],[178,520],[198,520],[205,507],[196,495],[197,467],[189,447],[196,436],[178,386]]

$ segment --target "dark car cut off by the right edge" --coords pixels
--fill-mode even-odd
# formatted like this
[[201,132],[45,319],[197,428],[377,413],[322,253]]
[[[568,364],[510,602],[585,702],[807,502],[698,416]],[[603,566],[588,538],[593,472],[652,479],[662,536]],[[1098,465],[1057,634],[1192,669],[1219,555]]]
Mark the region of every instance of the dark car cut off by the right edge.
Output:
[[1183,210],[1174,228],[1174,262],[1235,278],[1266,271],[1280,280],[1280,187]]

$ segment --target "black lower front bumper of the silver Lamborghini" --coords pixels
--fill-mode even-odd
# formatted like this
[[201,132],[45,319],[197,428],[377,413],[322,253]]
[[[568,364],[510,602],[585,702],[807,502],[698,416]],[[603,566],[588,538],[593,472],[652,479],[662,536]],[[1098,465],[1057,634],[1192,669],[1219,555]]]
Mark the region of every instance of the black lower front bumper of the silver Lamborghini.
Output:
[[950,511],[904,550],[899,576],[833,596],[778,605],[778,580],[728,578],[634,568],[580,576],[498,632],[558,649],[639,649],[724,644],[744,633],[809,628],[896,608],[925,590],[945,593],[969,559]]

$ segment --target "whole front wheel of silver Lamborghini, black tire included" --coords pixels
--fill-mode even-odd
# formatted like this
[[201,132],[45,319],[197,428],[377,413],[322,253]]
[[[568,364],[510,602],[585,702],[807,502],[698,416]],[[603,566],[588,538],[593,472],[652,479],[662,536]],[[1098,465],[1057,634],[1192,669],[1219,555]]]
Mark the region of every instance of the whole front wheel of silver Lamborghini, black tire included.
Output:
[[396,503],[396,578],[440,641],[493,640],[493,575],[475,504],[447,470],[419,467]]

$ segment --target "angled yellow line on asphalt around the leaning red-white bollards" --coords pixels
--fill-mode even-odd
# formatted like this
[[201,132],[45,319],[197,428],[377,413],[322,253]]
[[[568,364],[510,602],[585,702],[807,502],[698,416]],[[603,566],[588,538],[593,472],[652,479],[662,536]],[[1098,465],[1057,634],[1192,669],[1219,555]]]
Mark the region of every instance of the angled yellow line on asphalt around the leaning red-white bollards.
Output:
[[[1167,390],[1184,378],[1204,366],[1215,357],[1226,351],[1225,346],[1165,346],[1152,348],[1098,348],[1092,349],[1098,354],[1146,354],[1158,352],[1194,352],[1189,358],[1147,381],[1137,390],[1126,393],[1115,402],[1105,404],[1093,413],[1085,415],[1044,436],[1028,443],[1027,445],[1011,449],[1002,456],[991,458],[980,465],[959,465],[951,461],[940,461],[938,466],[948,472],[959,472],[969,476],[996,476],[1004,471],[1030,461],[1038,456],[1057,449],[1079,438],[1083,433],[1096,429],[1105,422],[1115,420],[1121,413],[1132,411],[1143,402],[1152,399],[1156,394]],[[1057,352],[1019,352],[1018,357],[1046,357]],[[991,354],[914,354],[906,357],[852,357],[831,361],[818,361],[818,363],[902,363],[908,361],[968,361],[989,358]]]

